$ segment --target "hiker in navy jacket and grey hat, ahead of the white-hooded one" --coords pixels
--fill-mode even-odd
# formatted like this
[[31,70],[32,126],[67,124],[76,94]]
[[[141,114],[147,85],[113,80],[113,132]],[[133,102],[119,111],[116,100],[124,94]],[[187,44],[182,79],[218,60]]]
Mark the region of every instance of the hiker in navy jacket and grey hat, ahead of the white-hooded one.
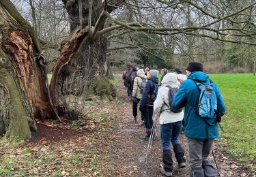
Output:
[[150,95],[153,95],[155,89],[158,89],[158,73],[159,72],[155,69],[150,70],[150,76],[147,78],[145,90],[143,91],[141,103],[139,105],[139,110],[143,115],[146,127],[146,135],[141,136],[141,140],[150,140],[150,133],[153,126],[152,116],[154,110],[154,101],[150,98]]

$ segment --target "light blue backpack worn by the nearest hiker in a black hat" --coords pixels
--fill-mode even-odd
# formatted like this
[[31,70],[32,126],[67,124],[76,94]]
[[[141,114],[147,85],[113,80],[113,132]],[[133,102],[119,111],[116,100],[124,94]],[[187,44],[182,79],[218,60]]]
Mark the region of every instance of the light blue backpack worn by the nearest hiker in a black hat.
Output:
[[[215,116],[216,116],[216,110],[217,110],[217,98],[216,94],[214,92],[214,84],[210,80],[210,84],[205,85],[197,80],[193,80],[195,84],[197,85],[197,88],[199,88],[200,91],[200,97],[199,97],[199,103],[197,106],[195,106],[196,112],[207,120],[208,125],[215,125]],[[213,121],[211,121],[212,119]]]

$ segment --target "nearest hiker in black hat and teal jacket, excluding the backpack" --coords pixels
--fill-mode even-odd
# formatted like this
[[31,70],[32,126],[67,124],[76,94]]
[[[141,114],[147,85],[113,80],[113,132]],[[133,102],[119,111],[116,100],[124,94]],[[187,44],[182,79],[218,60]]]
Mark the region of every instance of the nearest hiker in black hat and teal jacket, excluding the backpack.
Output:
[[[215,176],[216,171],[208,160],[215,138],[218,138],[218,123],[208,125],[196,112],[200,91],[196,83],[210,84],[209,76],[203,73],[203,65],[198,62],[189,63],[186,68],[187,80],[180,85],[174,96],[172,106],[175,109],[185,107],[184,134],[188,138],[190,156],[190,176]],[[223,116],[226,108],[223,97],[216,83],[213,82],[217,99],[217,112]],[[194,107],[194,108],[193,108]]]

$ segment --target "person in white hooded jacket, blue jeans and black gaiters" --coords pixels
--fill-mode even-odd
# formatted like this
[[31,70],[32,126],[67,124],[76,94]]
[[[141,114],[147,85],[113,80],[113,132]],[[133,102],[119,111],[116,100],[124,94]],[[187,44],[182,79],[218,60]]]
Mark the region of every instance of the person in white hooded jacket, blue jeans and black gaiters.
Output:
[[171,144],[178,163],[177,168],[186,167],[184,149],[179,140],[182,130],[182,119],[184,112],[173,113],[169,109],[169,87],[177,88],[177,74],[166,74],[161,82],[162,86],[158,90],[156,101],[154,101],[154,112],[160,113],[160,138],[162,143],[162,161],[164,167],[160,168],[162,174],[171,176],[173,171],[173,161],[171,159]]

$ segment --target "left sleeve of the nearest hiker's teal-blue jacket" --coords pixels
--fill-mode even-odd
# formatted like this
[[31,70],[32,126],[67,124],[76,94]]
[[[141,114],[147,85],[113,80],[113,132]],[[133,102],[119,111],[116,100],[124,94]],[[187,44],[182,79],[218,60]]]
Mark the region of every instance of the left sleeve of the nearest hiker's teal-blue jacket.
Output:
[[177,93],[173,97],[172,107],[174,109],[180,109],[186,106],[186,92],[188,88],[188,82],[184,81],[180,85],[179,90],[177,90]]

